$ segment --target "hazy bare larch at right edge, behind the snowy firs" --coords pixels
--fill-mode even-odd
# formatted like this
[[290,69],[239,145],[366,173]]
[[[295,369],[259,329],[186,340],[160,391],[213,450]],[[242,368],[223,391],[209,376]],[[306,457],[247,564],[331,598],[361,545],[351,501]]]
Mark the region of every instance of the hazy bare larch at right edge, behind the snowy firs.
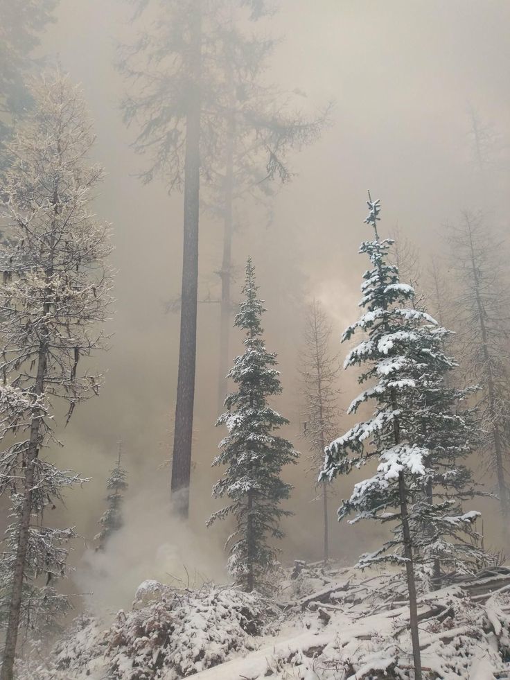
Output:
[[510,299],[506,284],[506,248],[484,223],[481,213],[464,212],[448,228],[455,272],[457,331],[462,366],[480,385],[478,412],[482,448],[495,473],[502,514],[510,511],[506,464],[510,426]]

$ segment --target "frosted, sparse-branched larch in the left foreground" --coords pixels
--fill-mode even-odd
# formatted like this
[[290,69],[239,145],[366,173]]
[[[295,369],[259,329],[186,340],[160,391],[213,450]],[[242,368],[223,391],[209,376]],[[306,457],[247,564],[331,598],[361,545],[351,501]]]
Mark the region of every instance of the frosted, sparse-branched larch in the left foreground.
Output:
[[80,359],[103,346],[112,287],[109,226],[91,213],[103,171],[87,164],[94,136],[85,103],[60,73],[38,79],[32,94],[33,110],[8,147],[1,192],[0,494],[11,502],[1,680],[12,680],[19,625],[33,603],[24,595],[42,577],[49,585],[65,573],[73,530],[47,521],[82,479],[42,453],[58,443],[57,405],[69,406],[69,421],[76,404],[98,393],[101,376],[82,370]]

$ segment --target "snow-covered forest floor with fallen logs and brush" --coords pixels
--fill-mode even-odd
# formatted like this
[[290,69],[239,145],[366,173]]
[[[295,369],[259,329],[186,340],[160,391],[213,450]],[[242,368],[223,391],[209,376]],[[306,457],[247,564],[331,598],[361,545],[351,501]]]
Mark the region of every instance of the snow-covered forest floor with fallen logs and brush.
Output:
[[[401,575],[297,562],[277,598],[140,586],[110,625],[80,616],[19,677],[37,680],[412,679]],[[510,679],[510,569],[452,577],[419,598],[424,678]]]

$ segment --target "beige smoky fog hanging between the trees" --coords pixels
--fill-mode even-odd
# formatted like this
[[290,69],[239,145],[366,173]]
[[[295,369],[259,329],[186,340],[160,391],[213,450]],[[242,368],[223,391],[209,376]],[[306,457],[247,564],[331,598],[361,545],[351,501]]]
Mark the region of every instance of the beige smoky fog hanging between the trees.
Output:
[[[278,410],[291,421],[286,434],[303,452],[286,472],[296,489],[285,521],[284,561],[319,559],[320,512],[313,477],[305,472],[307,444],[300,437],[297,352],[303,300],[317,297],[331,316],[335,344],[358,315],[367,261],[358,245],[367,236],[367,189],[380,198],[383,235],[398,225],[419,247],[423,268],[441,254],[443,225],[465,208],[484,209],[508,228],[510,6],[504,0],[285,0],[267,28],[284,40],[272,59],[270,80],[302,93],[305,110],[335,101],[331,126],[317,143],[292,155],[295,172],[274,200],[272,220],[250,212],[234,236],[240,272],[248,254],[265,299],[263,324],[270,351],[279,354],[283,394]],[[182,196],[168,197],[155,180],[142,186],[143,166],[130,142],[119,101],[124,83],[114,69],[116,42],[125,40],[130,8],[121,0],[61,0],[57,21],[44,35],[42,51],[58,55],[62,69],[82,84],[95,121],[95,159],[107,171],[96,212],[114,229],[116,313],[109,322],[110,349],[94,361],[106,372],[98,399],[76,410],[62,433],[59,462],[91,480],[67,497],[67,518],[89,541],[76,545],[75,585],[96,591],[109,606],[124,604],[144,578],[188,572],[221,579],[222,546],[228,527],[205,521],[219,507],[211,500],[218,469],[211,460],[224,435],[215,429],[219,308],[201,304],[191,518],[184,527],[168,506],[173,412],[177,382],[179,315],[166,303],[179,295],[182,259]],[[469,137],[470,107],[494,126],[501,143],[484,175]],[[204,213],[200,223],[200,296],[218,296],[222,225]],[[234,282],[240,293],[242,274]],[[232,332],[231,354],[241,349]],[[355,376],[340,376],[342,406],[355,396]],[[342,425],[348,424],[346,417]],[[62,423],[63,424],[63,423]],[[125,528],[112,539],[114,557],[104,564],[91,539],[103,512],[105,476],[123,441],[130,488]],[[335,483],[340,502],[353,480]],[[334,520],[335,507],[331,505]],[[484,503],[489,516],[496,512]],[[492,509],[491,509],[492,508]],[[378,530],[360,534],[332,521],[331,551],[351,564]],[[494,535],[491,539],[496,540]],[[74,587],[74,586],[73,586]]]

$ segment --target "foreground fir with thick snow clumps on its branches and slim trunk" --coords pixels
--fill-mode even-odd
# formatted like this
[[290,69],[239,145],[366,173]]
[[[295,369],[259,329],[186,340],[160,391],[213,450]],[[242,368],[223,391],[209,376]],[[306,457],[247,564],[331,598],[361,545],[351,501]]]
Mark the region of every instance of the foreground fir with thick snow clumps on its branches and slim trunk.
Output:
[[[469,530],[478,513],[460,514],[455,497],[445,498],[446,491],[435,500],[430,494],[429,487],[436,491],[434,484],[453,485],[455,478],[464,489],[464,468],[448,469],[448,457],[459,442],[464,442],[460,453],[468,452],[464,439],[468,425],[450,412],[450,400],[463,395],[441,391],[441,398],[432,399],[443,384],[443,374],[454,365],[441,351],[447,331],[412,306],[412,286],[401,284],[396,266],[387,263],[392,240],[381,241],[378,235],[380,203],[369,195],[368,204],[365,222],[373,228],[375,240],[364,241],[360,247],[372,265],[362,284],[360,306],[365,311],[345,331],[343,340],[349,340],[357,330],[367,333],[367,339],[349,352],[345,366],[364,365],[359,382],[373,381],[353,401],[349,412],[356,412],[369,399],[376,402],[376,410],[371,419],[356,424],[326,447],[319,479],[331,480],[338,473],[349,473],[353,467],[378,460],[373,477],[356,484],[351,498],[344,500],[339,518],[354,513],[351,523],[364,518],[394,523],[393,537],[374,552],[362,555],[358,564],[365,567],[389,561],[405,566],[414,670],[415,677],[421,679],[416,559],[430,564],[437,552],[443,555],[446,537],[455,533],[457,540],[457,532]],[[434,441],[437,427],[443,437]],[[446,461],[443,467],[440,461]],[[424,533],[425,525],[433,531]]]

